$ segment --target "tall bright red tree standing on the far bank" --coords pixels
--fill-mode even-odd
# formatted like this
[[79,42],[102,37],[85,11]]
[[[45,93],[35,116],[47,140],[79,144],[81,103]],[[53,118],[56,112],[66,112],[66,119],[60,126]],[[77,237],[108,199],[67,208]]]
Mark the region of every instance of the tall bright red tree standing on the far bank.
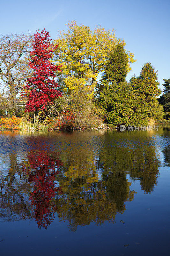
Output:
[[30,53],[29,66],[33,68],[33,77],[27,79],[23,87],[23,93],[28,96],[25,112],[46,109],[54,99],[62,97],[56,88],[59,85],[54,81],[54,71],[60,70],[61,66],[55,66],[51,62],[57,46],[51,43],[49,33],[45,30],[37,30],[32,43],[33,51]]

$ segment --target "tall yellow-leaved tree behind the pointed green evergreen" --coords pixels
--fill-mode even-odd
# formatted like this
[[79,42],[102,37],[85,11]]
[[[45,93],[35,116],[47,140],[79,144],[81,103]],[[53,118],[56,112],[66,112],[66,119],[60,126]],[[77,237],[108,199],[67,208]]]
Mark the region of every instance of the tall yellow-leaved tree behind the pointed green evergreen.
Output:
[[[110,53],[118,43],[125,45],[123,39],[115,37],[115,31],[106,31],[97,25],[92,31],[88,26],[78,26],[76,21],[67,24],[68,31],[59,31],[55,40],[58,48],[55,52],[57,65],[62,65],[59,80],[64,90],[75,95],[81,94],[91,99],[99,73],[103,71]],[[133,63],[133,53],[126,52],[129,63]],[[83,96],[84,97],[84,96]]]

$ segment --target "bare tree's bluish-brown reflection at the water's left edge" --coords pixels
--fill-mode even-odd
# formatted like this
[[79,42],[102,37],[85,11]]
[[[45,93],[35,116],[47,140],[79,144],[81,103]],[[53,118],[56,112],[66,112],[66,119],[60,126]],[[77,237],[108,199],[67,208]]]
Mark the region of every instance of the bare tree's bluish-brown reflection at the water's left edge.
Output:
[[0,179],[0,217],[8,221],[31,217],[30,191],[27,175],[18,165],[16,154],[9,154],[8,175],[1,173]]

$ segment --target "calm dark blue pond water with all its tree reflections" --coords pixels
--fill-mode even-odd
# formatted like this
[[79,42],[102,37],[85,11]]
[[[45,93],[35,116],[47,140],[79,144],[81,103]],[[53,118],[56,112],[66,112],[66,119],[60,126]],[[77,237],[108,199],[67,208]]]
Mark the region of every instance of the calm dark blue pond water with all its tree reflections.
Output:
[[170,130],[0,133],[0,255],[170,255]]

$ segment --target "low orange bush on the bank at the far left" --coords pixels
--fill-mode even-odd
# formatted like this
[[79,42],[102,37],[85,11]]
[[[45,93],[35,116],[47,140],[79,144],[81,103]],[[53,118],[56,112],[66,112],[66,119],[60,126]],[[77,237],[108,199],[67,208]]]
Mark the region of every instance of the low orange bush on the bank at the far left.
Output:
[[12,116],[11,118],[0,117],[0,128],[9,129],[9,130],[18,130],[21,119]]

